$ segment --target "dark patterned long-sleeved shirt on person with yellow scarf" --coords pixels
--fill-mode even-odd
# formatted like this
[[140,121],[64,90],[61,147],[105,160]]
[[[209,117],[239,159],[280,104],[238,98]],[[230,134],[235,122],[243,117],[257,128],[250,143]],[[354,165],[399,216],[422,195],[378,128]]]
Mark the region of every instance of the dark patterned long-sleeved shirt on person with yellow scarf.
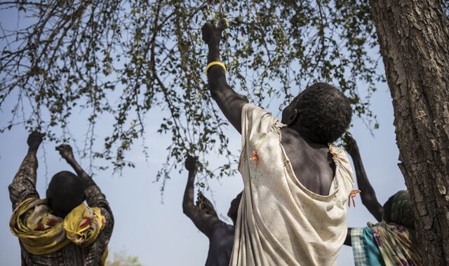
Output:
[[[20,202],[29,197],[39,198],[36,191],[36,153],[28,153],[20,165],[20,169],[13,179],[9,188],[9,197],[13,203],[13,209],[18,207]],[[20,243],[22,265],[46,265],[46,266],[78,266],[78,265],[98,265],[100,259],[107,248],[109,239],[114,228],[114,217],[109,208],[109,203],[105,195],[101,193],[98,186],[86,188],[86,202],[89,207],[99,207],[101,213],[106,218],[105,228],[100,232],[98,238],[91,246],[81,247],[73,243],[68,244],[59,251],[46,255],[33,255],[29,253]]]

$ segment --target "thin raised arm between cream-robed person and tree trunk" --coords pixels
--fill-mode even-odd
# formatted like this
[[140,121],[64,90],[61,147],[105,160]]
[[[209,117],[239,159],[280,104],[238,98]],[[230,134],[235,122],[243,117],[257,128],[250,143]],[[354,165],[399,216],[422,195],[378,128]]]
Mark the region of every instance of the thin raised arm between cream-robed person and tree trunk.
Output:
[[366,209],[368,209],[368,211],[373,214],[376,220],[380,222],[382,221],[384,208],[377,200],[373,186],[371,186],[370,181],[368,181],[368,177],[366,176],[360,153],[358,152],[357,142],[355,139],[349,136],[347,137],[347,139],[345,139],[345,142],[346,150],[349,155],[351,155],[352,161],[354,162],[354,167],[356,169],[356,179],[358,189],[361,190],[360,197],[362,203],[363,205],[365,205]]

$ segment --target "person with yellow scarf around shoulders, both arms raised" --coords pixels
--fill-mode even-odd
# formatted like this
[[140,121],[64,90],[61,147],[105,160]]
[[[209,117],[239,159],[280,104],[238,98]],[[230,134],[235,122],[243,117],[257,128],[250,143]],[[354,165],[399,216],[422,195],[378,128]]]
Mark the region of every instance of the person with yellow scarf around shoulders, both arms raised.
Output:
[[56,150],[76,175],[55,174],[46,199],[36,191],[36,152],[44,136],[29,134],[28,153],[8,187],[10,229],[19,239],[22,265],[105,265],[114,218],[105,195],[74,159],[72,147]]

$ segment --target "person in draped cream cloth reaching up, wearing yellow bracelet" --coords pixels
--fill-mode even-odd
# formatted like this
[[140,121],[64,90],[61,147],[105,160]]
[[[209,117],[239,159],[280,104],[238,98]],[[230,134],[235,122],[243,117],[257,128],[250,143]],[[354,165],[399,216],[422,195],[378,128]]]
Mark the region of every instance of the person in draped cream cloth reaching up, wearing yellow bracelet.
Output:
[[351,121],[348,99],[315,83],[283,110],[280,122],[229,87],[221,29],[207,22],[202,30],[210,93],[242,136],[244,190],[229,265],[335,265],[354,181],[344,151],[331,143]]

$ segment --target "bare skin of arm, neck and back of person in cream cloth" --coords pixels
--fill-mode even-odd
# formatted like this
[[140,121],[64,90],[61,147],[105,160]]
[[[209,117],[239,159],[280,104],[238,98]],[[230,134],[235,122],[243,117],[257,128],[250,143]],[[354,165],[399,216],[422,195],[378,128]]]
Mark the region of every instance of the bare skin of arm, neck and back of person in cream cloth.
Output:
[[[220,61],[221,27],[210,22],[202,28],[203,41],[208,44],[208,63]],[[208,70],[208,87],[217,105],[236,130],[241,133],[241,111],[246,102],[229,87],[226,74],[221,66],[211,66]],[[328,152],[327,144],[319,144],[299,132],[295,105],[286,106],[282,113],[281,144],[290,160],[296,178],[307,189],[319,195],[328,195],[335,174],[335,164]]]

